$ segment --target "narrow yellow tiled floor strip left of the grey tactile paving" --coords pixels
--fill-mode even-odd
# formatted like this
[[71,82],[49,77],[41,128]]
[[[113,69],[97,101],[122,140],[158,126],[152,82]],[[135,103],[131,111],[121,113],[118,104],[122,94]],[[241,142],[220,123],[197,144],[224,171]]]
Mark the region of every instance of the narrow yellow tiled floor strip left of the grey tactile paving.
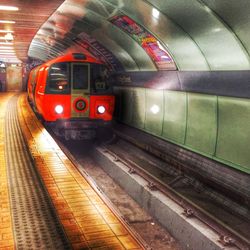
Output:
[[7,165],[5,162],[5,113],[8,100],[14,94],[0,94],[0,249],[15,249],[9,199]]

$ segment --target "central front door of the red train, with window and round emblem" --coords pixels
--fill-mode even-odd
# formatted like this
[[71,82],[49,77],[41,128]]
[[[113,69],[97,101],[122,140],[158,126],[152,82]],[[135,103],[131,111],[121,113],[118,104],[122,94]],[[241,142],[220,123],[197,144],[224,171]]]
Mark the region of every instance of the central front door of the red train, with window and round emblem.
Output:
[[71,64],[71,117],[89,116],[90,69],[89,64]]

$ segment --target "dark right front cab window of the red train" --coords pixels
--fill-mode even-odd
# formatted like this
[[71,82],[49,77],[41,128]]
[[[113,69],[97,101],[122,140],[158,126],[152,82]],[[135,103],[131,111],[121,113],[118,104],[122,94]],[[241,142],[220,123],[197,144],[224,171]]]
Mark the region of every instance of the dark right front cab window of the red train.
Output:
[[111,85],[108,82],[110,71],[105,65],[91,65],[91,92],[93,94],[111,93]]

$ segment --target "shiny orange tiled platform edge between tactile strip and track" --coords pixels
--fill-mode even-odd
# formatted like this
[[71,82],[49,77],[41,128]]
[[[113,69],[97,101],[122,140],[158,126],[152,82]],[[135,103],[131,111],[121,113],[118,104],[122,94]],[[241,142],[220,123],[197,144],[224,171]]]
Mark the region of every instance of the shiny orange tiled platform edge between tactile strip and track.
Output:
[[27,145],[74,249],[143,249],[19,98]]

